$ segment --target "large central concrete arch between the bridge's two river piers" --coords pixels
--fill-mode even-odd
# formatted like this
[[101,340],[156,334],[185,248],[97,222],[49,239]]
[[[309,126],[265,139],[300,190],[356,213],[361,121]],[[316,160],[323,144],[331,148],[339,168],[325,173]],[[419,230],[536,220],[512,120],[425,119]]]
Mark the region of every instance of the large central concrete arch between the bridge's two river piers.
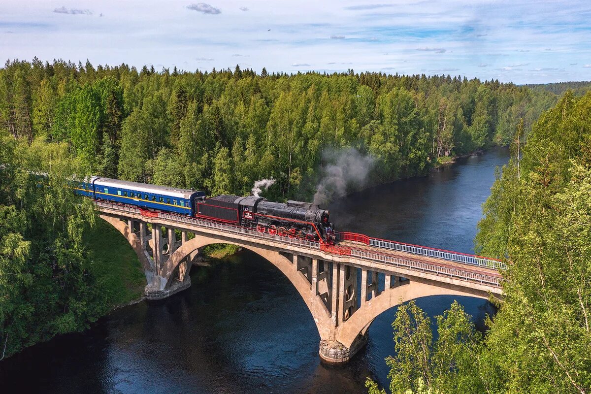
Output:
[[324,307],[322,300],[313,293],[310,282],[297,270],[294,261],[290,261],[290,259],[279,253],[277,250],[258,248],[254,245],[232,240],[220,240],[217,237],[196,235],[193,239],[183,243],[183,245],[169,256],[160,272],[158,272],[157,278],[155,278],[155,283],[159,284],[161,290],[168,288],[168,286],[171,285],[170,282],[171,278],[174,277],[174,272],[187,256],[204,246],[215,243],[229,243],[231,245],[251,250],[251,252],[261,256],[279,269],[279,271],[281,271],[281,273],[283,273],[283,275],[285,275],[296,288],[304,302],[306,302],[306,306],[314,319],[320,337],[326,338],[330,336],[332,327],[330,314]]

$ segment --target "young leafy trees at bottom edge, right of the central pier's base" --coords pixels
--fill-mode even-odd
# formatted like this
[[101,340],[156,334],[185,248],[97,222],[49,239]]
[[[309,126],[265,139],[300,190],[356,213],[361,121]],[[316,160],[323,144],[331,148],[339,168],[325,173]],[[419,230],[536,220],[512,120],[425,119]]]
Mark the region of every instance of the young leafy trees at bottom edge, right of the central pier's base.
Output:
[[[431,320],[414,301],[398,308],[392,327],[396,355],[386,362],[392,393],[483,393],[495,388],[495,370],[488,363],[482,334],[454,301],[436,317],[437,339]],[[368,379],[370,393],[381,393]]]

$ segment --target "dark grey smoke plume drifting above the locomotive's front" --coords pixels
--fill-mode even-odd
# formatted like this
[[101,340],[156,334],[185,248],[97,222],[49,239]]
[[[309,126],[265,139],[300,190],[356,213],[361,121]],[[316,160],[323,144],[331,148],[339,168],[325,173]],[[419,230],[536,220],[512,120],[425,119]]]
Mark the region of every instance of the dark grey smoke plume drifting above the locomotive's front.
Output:
[[328,203],[345,196],[352,188],[363,187],[375,164],[374,157],[364,156],[353,148],[325,151],[322,158],[328,164],[322,168],[322,178],[316,187],[314,204]]

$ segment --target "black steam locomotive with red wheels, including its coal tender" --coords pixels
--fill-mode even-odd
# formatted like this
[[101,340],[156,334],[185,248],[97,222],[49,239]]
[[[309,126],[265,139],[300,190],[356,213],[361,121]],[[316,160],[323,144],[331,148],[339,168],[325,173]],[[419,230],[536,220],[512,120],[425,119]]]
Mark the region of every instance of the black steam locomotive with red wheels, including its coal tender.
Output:
[[265,198],[222,195],[197,200],[195,216],[256,228],[269,233],[332,245],[335,240],[329,211],[301,201],[272,203]]

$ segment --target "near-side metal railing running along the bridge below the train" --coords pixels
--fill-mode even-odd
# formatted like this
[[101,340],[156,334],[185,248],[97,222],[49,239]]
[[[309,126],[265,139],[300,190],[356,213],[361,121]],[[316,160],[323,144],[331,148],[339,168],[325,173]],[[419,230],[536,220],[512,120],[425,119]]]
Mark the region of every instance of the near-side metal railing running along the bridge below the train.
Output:
[[[96,205],[99,207],[103,207],[106,209],[111,210],[118,210],[126,213],[132,214],[141,214],[140,210],[137,208],[131,208],[126,206],[119,206],[116,204],[108,204],[102,203],[100,201],[95,201]],[[158,212],[159,219],[165,219],[170,222],[182,223],[182,224],[190,224],[192,226],[197,227],[204,227],[207,229],[214,229],[220,230],[227,233],[233,233],[236,235],[245,235],[251,238],[256,239],[266,239],[266,240],[275,240],[279,243],[288,243],[290,245],[301,246],[303,248],[309,248],[314,250],[323,250],[324,252],[333,253],[336,255],[342,256],[354,256],[356,258],[365,260],[365,261],[378,261],[378,262],[385,262],[392,264],[394,266],[399,266],[402,268],[410,268],[418,271],[423,272],[431,272],[437,275],[445,275],[445,276],[452,276],[454,278],[463,279],[466,281],[473,281],[473,282],[480,282],[485,284],[491,284],[498,286],[500,284],[501,278],[499,276],[494,275],[486,275],[484,273],[478,272],[471,272],[465,271],[460,268],[453,268],[449,266],[441,266],[431,262],[424,262],[424,261],[413,261],[410,259],[400,258],[397,256],[392,255],[385,255],[384,253],[372,252],[371,250],[364,250],[364,249],[356,249],[353,247],[343,247],[339,245],[320,245],[317,242],[310,242],[308,240],[303,239],[291,239],[289,237],[283,237],[279,235],[271,235],[268,233],[259,233],[254,229],[248,229],[245,227],[239,226],[232,226],[225,223],[216,223],[216,222],[209,222],[203,219],[196,219],[194,217],[188,216],[181,216],[181,215],[174,215],[168,214],[163,212]],[[372,239],[369,239],[368,242],[371,242]],[[361,242],[361,241],[359,241]],[[365,243],[365,242],[363,242]],[[366,245],[371,245],[371,243],[366,243]]]

